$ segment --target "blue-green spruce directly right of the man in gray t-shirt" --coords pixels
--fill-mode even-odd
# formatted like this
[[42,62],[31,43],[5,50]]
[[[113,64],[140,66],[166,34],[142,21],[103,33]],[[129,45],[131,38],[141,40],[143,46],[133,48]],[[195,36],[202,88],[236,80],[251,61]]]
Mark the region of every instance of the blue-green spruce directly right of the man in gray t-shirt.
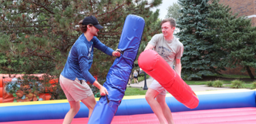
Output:
[[178,0],[182,6],[182,16],[177,19],[177,36],[184,44],[181,58],[182,77],[184,79],[201,79],[202,75],[217,73],[215,68],[219,57],[214,49],[214,42],[207,41],[203,33],[209,30],[207,16],[208,0]]

